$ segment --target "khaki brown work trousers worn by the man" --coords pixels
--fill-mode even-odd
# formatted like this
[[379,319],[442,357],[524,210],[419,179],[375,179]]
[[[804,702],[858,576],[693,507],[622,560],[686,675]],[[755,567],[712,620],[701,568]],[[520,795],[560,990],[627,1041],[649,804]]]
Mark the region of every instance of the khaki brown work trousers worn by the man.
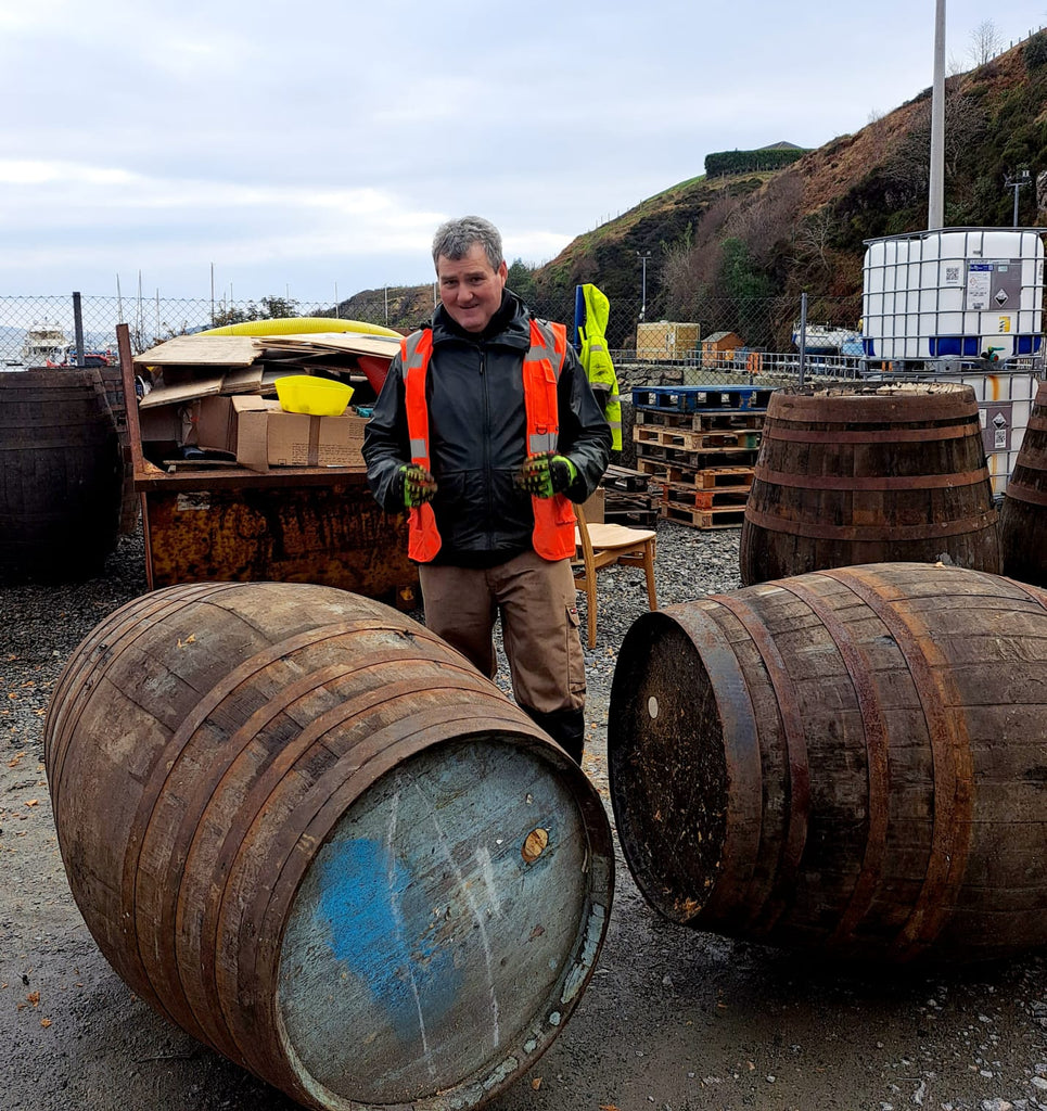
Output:
[[501,613],[512,693],[541,713],[586,702],[586,659],[570,560],[525,552],[490,568],[418,568],[426,627],[495,678],[491,632]]

